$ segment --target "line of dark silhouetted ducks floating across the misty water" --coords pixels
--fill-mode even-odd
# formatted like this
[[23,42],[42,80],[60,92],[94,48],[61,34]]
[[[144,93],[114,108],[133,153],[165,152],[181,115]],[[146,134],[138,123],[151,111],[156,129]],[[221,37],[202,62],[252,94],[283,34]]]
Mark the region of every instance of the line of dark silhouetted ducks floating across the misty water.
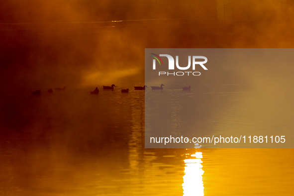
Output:
[[[111,86],[103,86],[103,90],[112,90],[114,89],[114,87],[116,87],[115,85],[111,85]],[[163,90],[164,84],[161,84],[160,87],[153,87],[151,86],[152,90]],[[147,89],[148,87],[145,85],[144,87],[134,87],[134,89],[136,91],[143,91],[145,89]],[[55,91],[65,91],[67,88],[63,87],[63,88],[55,88]],[[184,91],[189,91],[191,90],[191,87],[183,87]],[[129,89],[122,89],[121,93],[128,93],[130,90]],[[53,93],[52,89],[48,90],[48,93]],[[92,92],[90,92],[91,94],[99,94],[99,90],[98,87],[96,87],[96,89]],[[32,93],[32,95],[41,95],[41,90],[36,90]]]

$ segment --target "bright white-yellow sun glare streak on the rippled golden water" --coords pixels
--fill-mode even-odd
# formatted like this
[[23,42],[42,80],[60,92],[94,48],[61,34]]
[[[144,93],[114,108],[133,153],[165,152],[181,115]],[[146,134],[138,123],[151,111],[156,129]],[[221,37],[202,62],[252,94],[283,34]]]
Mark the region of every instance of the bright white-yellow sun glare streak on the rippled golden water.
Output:
[[[188,156],[190,154],[187,154]],[[184,196],[204,196],[204,187],[202,181],[202,152],[196,152],[191,155],[190,159],[185,159]]]

